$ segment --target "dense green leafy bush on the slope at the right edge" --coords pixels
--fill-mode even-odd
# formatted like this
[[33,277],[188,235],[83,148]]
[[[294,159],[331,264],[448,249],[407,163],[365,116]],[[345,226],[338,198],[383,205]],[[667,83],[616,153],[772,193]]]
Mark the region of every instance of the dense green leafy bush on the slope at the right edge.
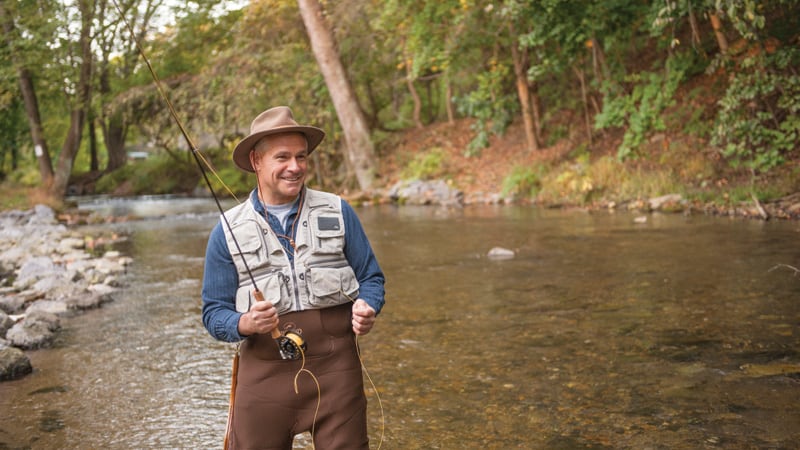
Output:
[[719,100],[712,144],[734,167],[767,171],[800,142],[800,50],[745,56]]

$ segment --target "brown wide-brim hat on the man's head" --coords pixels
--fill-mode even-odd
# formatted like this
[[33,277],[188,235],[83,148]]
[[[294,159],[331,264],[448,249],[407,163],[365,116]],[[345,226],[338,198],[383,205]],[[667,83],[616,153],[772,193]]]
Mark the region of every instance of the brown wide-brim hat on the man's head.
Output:
[[233,149],[234,164],[247,172],[255,172],[253,165],[250,164],[250,151],[253,150],[256,143],[264,136],[289,132],[305,135],[308,141],[308,153],[313,152],[325,138],[325,132],[321,129],[309,125],[299,125],[294,120],[292,110],[288,106],[276,106],[259,114],[250,124],[250,135],[242,139]]

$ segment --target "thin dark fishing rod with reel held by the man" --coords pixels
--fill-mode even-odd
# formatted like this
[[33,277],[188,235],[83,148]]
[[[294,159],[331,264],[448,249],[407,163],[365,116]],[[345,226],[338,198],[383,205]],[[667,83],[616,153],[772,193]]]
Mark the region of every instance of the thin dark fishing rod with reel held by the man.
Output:
[[[236,235],[233,234],[233,228],[231,227],[230,222],[228,222],[228,218],[225,216],[225,211],[222,208],[222,204],[220,204],[219,197],[217,197],[216,192],[214,191],[214,187],[211,184],[211,180],[208,178],[208,174],[206,172],[206,166],[214,173],[217,180],[222,183],[225,189],[236,199],[236,196],[231,192],[230,188],[227,184],[219,177],[219,175],[214,171],[213,167],[209,162],[202,156],[200,150],[194,144],[192,139],[189,137],[189,133],[186,131],[186,128],[183,126],[183,122],[181,122],[180,118],[178,117],[177,111],[175,111],[175,107],[172,105],[169,97],[167,96],[166,92],[164,91],[164,87],[161,84],[161,80],[158,78],[156,71],[153,69],[153,65],[150,63],[150,58],[147,57],[145,54],[144,49],[142,48],[139,40],[136,38],[136,34],[133,31],[133,27],[131,27],[128,20],[125,18],[125,14],[123,14],[122,10],[117,4],[116,0],[112,0],[114,3],[114,7],[116,7],[117,12],[119,13],[120,19],[125,24],[125,27],[128,29],[128,32],[131,34],[131,39],[133,40],[134,44],[136,45],[136,49],[141,55],[142,59],[144,60],[145,64],[147,65],[147,69],[150,72],[150,76],[153,78],[153,82],[156,85],[156,90],[158,91],[159,95],[161,96],[162,100],[167,104],[167,109],[169,110],[170,116],[178,125],[178,129],[180,129],[181,135],[183,139],[186,141],[186,145],[189,146],[189,149],[192,152],[192,156],[194,156],[194,160],[197,163],[198,169],[200,169],[200,173],[203,175],[203,179],[206,182],[206,186],[208,186],[208,190],[211,191],[211,196],[214,198],[214,203],[217,205],[217,209],[219,210],[220,216],[222,217],[222,221],[225,224],[225,227],[228,230],[228,233],[231,235],[234,245],[236,246],[236,251],[239,253],[239,256],[242,259],[242,264],[244,265],[245,271],[247,272],[247,276],[250,278],[250,282],[253,284],[253,297],[255,297],[257,302],[264,301],[264,294],[261,290],[258,289],[258,284],[256,284],[255,277],[253,276],[253,272],[250,271],[250,266],[247,264],[247,260],[244,257],[244,253],[242,253],[241,247],[239,247],[239,241],[236,239]],[[203,166],[205,163],[206,166]],[[238,201],[238,199],[236,199]],[[281,358],[287,360],[293,359],[300,359],[303,355],[303,352],[306,350],[306,343],[302,336],[298,333],[295,333],[291,330],[287,330],[284,333],[281,333],[278,330],[278,327],[272,329],[270,333],[272,338],[278,345],[278,351],[280,352]],[[238,357],[238,349],[236,355]],[[236,367],[236,362],[234,361],[234,367]]]

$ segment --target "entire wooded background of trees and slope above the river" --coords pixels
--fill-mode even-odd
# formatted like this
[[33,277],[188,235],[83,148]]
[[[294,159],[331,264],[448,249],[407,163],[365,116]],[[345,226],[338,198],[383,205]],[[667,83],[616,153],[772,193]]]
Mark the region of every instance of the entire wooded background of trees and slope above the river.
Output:
[[3,189],[56,202],[199,192],[138,42],[236,192],[249,182],[229,167],[232,145],[266,106],[291,104],[328,131],[311,183],[345,194],[435,178],[504,201],[766,204],[797,190],[799,11],[792,0],[12,2],[0,7]]

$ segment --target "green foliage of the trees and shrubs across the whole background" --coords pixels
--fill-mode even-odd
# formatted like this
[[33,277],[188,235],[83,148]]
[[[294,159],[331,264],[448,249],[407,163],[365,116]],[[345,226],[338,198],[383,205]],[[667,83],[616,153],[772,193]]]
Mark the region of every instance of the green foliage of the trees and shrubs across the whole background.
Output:
[[[345,164],[343,154],[337,150],[343,139],[341,125],[297,3],[260,0],[238,11],[226,9],[223,3],[155,2],[157,10],[147,12],[141,0],[124,5],[130,7],[126,16],[134,19],[135,26],[149,30],[142,44],[190,135],[220,142],[222,136],[246,133],[250,120],[265,107],[290,104],[302,121],[328,132],[322,149],[325,158],[317,169],[325,171],[325,179],[335,178],[332,173],[345,173],[340,170]],[[425,119],[442,120],[449,102],[457,106],[461,117],[475,119],[473,139],[464,151],[467,156],[478,155],[492,136],[502,134],[519,116],[511,57],[511,48],[516,48],[523,55],[529,87],[540,99],[548,145],[578,136],[575,130],[582,121],[575,118],[582,110],[590,115],[599,110],[594,117],[597,129],[620,128],[624,133],[618,160],[639,156],[642,144],[654,132],[679,129],[702,138],[710,135],[736,167],[774,170],[796,155],[800,140],[797,0],[322,3],[345,65],[346,81],[352,83],[373,130],[413,126],[410,117],[416,105],[406,83],[412,80]],[[0,44],[0,135],[4,139],[0,156],[5,157],[0,170],[8,172],[8,156],[12,148],[19,148],[24,157],[17,172],[26,175],[18,178],[38,178],[27,175],[36,175],[36,167],[28,148],[29,133],[18,122],[24,118],[23,109],[18,100],[16,104],[9,101],[20,97],[15,87],[18,69],[35,70],[42,128],[55,156],[69,127],[74,95],[67,94],[74,93],[80,67],[75,59],[81,18],[77,5],[53,0],[4,3],[15,29]],[[723,22],[731,42],[728,55],[714,58],[717,49],[709,12]],[[155,15],[142,16],[150,13]],[[176,127],[115,16],[114,10],[107,10],[104,18],[95,17],[92,30],[92,48],[103,55],[117,55],[99,58],[106,65],[96,67],[93,86],[103,88],[92,96],[94,117],[102,126],[118,120],[115,124],[126,131],[128,143],[172,148],[179,139]],[[690,38],[692,16],[699,19],[697,31],[703,42]],[[157,33],[152,28],[155,17],[170,21]],[[710,66],[709,61],[713,62]],[[709,70],[700,75],[706,66]],[[698,75],[707,78],[692,81],[700,81],[697,85],[705,90],[681,95],[682,104],[675,105],[679,89]],[[719,85],[706,89],[712,78]],[[717,92],[724,95],[718,111],[712,112],[703,105]],[[712,123],[713,113],[717,116]],[[552,183],[582,201],[603,195],[603,179],[613,175],[600,174],[602,167],[612,166],[610,162],[589,164],[590,152],[586,155],[577,166],[564,168]],[[100,158],[107,159],[102,154]],[[76,171],[88,167],[86,159],[84,134]],[[691,163],[696,166],[688,171],[695,174],[691,179],[710,177],[707,167],[695,160]],[[175,169],[187,163],[170,164]],[[440,176],[441,165],[432,149],[406,170],[417,176]],[[223,168],[220,175],[237,193],[249,191],[247,174],[230,167],[227,159],[219,166]],[[143,168],[139,163],[132,167]],[[121,172],[103,182],[109,183],[109,190],[124,190],[124,182],[132,192],[147,191],[148,185],[160,192],[174,179],[193,178],[190,173],[195,171],[192,167],[180,177],[172,176],[155,164],[148,167],[154,175],[144,181],[135,173]],[[112,186],[113,177],[120,178]],[[518,168],[509,175],[504,190],[523,195],[547,177],[536,167]],[[196,186],[196,172],[194,181],[189,187],[183,182],[173,187],[191,190]],[[546,190],[542,183],[541,190]]]

